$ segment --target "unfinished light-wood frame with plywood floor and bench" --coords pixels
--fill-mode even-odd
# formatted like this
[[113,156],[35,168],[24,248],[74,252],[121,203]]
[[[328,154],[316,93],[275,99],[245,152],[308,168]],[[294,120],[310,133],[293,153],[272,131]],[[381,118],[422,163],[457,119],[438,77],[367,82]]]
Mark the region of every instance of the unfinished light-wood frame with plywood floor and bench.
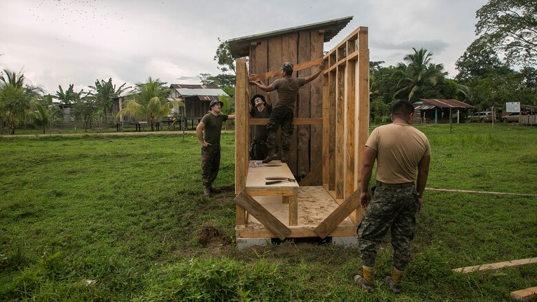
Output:
[[[262,43],[250,44],[251,55],[257,57],[262,52],[262,56],[268,57],[266,66],[257,65],[257,60],[251,58],[251,69],[255,72],[273,69],[257,72],[258,78],[271,82],[271,77],[280,74],[282,61],[293,62],[293,59],[299,60],[295,65],[299,76],[309,74],[304,69],[320,62],[322,47],[301,60],[300,45],[304,42],[297,40],[300,36],[301,32],[287,32],[281,38],[269,39],[266,50]],[[308,41],[324,41],[322,30],[304,36],[308,36]],[[277,51],[271,43],[277,45]],[[293,57],[294,54],[298,56]],[[248,160],[249,134],[251,125],[267,120],[249,118],[248,103],[257,91],[249,86],[246,60],[236,61],[235,232],[238,239],[356,237],[361,219],[359,176],[369,129],[368,28],[357,28],[324,59],[327,64],[322,76],[312,82],[315,85],[303,87],[305,93],[300,91],[299,106],[310,106],[300,107],[293,121],[294,125],[306,128],[306,131],[295,128],[297,156],[288,164],[274,161],[262,167],[255,167],[255,162]],[[319,86],[321,89],[317,90]],[[317,103],[320,106],[314,105]],[[300,140],[304,138],[302,144]],[[319,154],[315,153],[315,146],[319,147]],[[295,165],[296,169],[311,166],[311,172],[300,186],[295,182],[265,183],[266,177],[297,175],[293,173]],[[315,182],[317,175],[322,185],[307,186]]]

